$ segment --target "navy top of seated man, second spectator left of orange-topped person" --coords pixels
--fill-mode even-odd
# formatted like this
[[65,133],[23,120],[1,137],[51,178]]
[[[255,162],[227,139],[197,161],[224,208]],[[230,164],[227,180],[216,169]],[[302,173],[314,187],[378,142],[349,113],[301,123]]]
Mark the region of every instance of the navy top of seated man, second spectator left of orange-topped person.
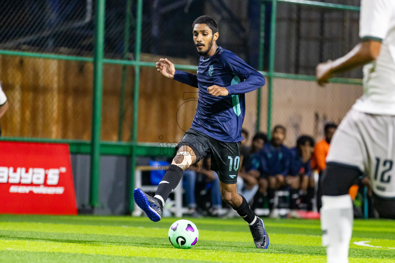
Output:
[[246,171],[257,170],[264,176],[276,174],[288,175],[290,171],[292,155],[290,149],[281,145],[274,147],[270,142],[263,145],[263,149],[250,157]]

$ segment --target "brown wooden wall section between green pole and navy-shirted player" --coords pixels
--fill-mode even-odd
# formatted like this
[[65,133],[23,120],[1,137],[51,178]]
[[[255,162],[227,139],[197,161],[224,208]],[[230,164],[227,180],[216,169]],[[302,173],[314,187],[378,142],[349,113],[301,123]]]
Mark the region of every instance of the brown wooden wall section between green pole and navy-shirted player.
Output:
[[[179,141],[184,134],[180,127],[184,130],[185,127],[190,127],[197,105],[196,99],[184,100],[184,94],[193,93],[197,97],[197,91],[197,88],[162,76],[155,68],[143,67],[140,82],[138,141]],[[176,116],[180,106],[179,127]]]

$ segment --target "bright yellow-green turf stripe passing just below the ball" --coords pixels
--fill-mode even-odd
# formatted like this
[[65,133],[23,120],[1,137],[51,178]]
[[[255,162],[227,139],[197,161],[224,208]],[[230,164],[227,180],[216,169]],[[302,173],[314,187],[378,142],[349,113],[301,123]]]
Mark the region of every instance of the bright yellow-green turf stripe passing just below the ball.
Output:
[[[101,254],[112,256],[131,256],[131,257],[159,257],[174,259],[197,259],[204,261],[231,262],[231,263],[250,263],[250,262],[292,262],[292,263],[324,263],[323,256],[307,255],[287,255],[287,254],[268,254],[268,253],[240,253],[228,251],[210,250],[181,250],[176,248],[146,248],[130,246],[114,246],[102,244],[74,244],[64,242],[40,242],[40,241],[17,241],[1,240],[0,250],[22,250],[35,252],[68,252],[83,254]],[[372,259],[372,258],[351,258],[350,263],[393,263],[392,259]]]

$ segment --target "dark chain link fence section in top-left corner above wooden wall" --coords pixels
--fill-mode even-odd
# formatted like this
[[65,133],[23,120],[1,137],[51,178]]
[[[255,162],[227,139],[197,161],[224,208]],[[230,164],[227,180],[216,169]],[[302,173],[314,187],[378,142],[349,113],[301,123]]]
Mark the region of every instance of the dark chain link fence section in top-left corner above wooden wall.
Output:
[[93,17],[93,0],[4,0],[0,49],[92,56]]

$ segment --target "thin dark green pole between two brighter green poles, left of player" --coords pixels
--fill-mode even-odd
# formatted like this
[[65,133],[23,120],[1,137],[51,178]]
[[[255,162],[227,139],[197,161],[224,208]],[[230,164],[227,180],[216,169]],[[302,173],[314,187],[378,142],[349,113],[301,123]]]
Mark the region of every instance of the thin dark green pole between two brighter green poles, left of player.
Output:
[[[129,51],[129,36],[130,36],[130,17],[132,9],[132,0],[126,1],[126,15],[125,15],[125,32],[124,32],[124,54],[123,59],[128,58]],[[119,98],[119,118],[118,118],[118,141],[122,140],[122,128],[125,116],[125,85],[126,85],[126,65],[122,66],[122,82],[121,82],[121,95]]]

